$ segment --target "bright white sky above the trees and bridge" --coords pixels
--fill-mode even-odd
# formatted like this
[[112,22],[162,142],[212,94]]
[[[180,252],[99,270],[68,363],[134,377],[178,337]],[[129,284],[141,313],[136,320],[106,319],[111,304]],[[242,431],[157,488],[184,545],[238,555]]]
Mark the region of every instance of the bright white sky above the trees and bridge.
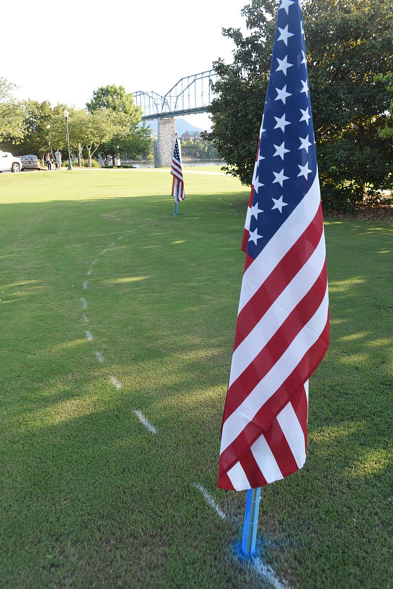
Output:
[[[222,27],[245,27],[247,0],[117,0],[36,2],[1,8],[0,77],[19,85],[19,100],[49,100],[84,108],[93,90],[123,85],[127,92],[164,95],[180,78],[232,61],[234,44]],[[187,117],[207,128],[205,114]]]

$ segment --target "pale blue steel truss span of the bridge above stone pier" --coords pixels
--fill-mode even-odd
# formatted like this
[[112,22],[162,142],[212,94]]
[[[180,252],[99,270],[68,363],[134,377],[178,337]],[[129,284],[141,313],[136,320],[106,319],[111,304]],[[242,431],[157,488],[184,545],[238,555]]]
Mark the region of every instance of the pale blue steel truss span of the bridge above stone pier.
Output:
[[143,90],[133,92],[135,104],[144,113],[142,121],[206,112],[214,95],[210,82],[217,81],[217,78],[214,70],[207,70],[181,78],[165,96]]

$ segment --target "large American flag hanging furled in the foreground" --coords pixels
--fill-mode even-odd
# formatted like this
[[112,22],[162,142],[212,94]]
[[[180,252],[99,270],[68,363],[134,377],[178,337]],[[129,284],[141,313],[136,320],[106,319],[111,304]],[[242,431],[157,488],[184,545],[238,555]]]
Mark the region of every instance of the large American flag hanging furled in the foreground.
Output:
[[304,465],[308,378],[329,341],[328,284],[300,0],[281,0],[245,234],[218,486]]

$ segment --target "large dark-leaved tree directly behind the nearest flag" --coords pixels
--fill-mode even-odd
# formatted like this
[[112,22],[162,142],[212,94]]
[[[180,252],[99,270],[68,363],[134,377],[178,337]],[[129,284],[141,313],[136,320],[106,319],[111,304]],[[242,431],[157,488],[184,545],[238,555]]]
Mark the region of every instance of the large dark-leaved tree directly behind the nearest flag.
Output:
[[[248,36],[224,29],[235,43],[234,63],[214,63],[217,97],[208,107],[209,139],[227,171],[251,183],[269,79],[277,2],[252,0],[242,14]],[[393,145],[378,128],[389,101],[375,83],[391,68],[393,6],[385,0],[305,0],[309,87],[325,206],[351,209],[368,193],[392,186]],[[386,120],[386,117],[385,117]]]

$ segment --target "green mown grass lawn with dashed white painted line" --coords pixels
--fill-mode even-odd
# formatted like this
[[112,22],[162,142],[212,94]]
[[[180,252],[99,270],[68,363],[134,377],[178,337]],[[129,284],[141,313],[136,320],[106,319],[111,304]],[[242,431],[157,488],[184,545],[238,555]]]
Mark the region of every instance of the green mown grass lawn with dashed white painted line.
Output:
[[[269,587],[217,488],[249,190],[196,171],[176,217],[168,170],[0,176],[1,588]],[[325,234],[308,458],[262,489],[259,551],[292,589],[385,589],[393,229]]]

